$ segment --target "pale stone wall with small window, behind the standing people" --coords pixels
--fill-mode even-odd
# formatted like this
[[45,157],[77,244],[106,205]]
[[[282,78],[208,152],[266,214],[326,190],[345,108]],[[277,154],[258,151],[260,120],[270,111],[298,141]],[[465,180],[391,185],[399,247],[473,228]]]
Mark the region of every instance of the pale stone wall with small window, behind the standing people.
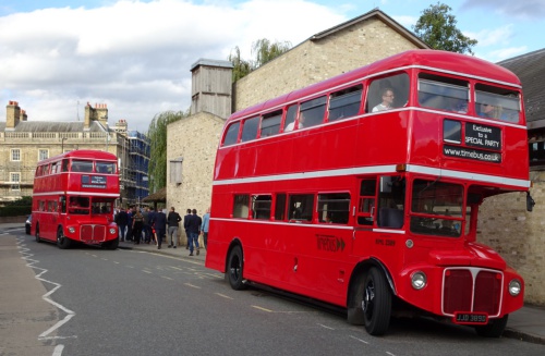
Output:
[[[180,216],[197,209],[202,217],[210,206],[216,150],[225,120],[199,112],[168,125],[167,130],[167,209],[174,207]],[[183,158],[182,183],[170,182],[170,161]],[[185,243],[185,233],[180,229]]]

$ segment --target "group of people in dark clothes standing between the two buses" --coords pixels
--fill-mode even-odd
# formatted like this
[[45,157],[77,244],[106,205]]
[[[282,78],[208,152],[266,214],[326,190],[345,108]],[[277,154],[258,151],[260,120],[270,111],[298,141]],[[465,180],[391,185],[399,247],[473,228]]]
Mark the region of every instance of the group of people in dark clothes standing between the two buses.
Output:
[[[203,235],[204,247],[206,248],[209,219],[210,208],[207,209],[203,218],[197,216],[196,209],[186,210],[183,218],[183,228],[187,236],[185,248],[190,250],[190,256],[193,256],[194,250],[196,250],[197,256],[201,253],[199,235]],[[133,241],[134,244],[140,244],[141,240],[144,238],[144,243],[149,244],[154,241],[157,248],[160,249],[162,240],[166,237],[169,248],[177,248],[178,246],[178,230],[182,218],[174,207],[170,208],[168,216],[166,209],[155,211],[153,207],[141,210],[138,207],[132,206],[126,211],[120,208],[116,213],[114,221],[119,226],[119,240],[122,242]]]

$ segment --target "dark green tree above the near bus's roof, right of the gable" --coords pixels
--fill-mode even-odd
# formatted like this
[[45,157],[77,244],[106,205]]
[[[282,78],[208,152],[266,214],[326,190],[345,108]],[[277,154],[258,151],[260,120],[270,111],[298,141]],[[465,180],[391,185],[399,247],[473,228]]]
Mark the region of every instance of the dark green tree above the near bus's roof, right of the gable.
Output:
[[433,49],[443,49],[450,52],[473,54],[471,48],[477,44],[476,39],[464,36],[456,27],[456,17],[450,14],[452,9],[437,2],[422,11],[416,25],[412,26],[414,33]]

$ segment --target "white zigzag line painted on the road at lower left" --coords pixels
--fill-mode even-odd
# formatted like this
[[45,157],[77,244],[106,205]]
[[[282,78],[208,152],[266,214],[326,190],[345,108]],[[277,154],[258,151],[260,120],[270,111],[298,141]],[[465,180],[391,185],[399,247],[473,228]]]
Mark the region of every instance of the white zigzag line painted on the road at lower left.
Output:
[[[24,237],[23,238],[17,238],[17,245],[19,245],[17,247],[19,247],[20,254],[23,255],[23,257],[21,257],[21,258],[27,261],[26,266],[28,266],[28,267],[31,267],[31,268],[33,268],[35,270],[41,271],[38,274],[36,274],[35,278],[37,280],[41,281],[41,282],[55,285],[55,287],[51,291],[49,291],[48,293],[44,294],[41,296],[41,298],[44,300],[46,300],[47,303],[56,306],[57,308],[61,309],[62,311],[64,311],[66,314],[66,316],[62,320],[59,320],[55,326],[52,326],[51,328],[49,328],[48,330],[46,330],[41,334],[39,334],[38,335],[38,340],[41,341],[41,340],[77,337],[77,335],[71,335],[71,336],[49,336],[49,334],[51,334],[53,331],[58,330],[64,323],[66,323],[68,321],[70,321],[70,319],[72,319],[75,316],[75,312],[50,298],[50,295],[52,295],[55,292],[57,292],[57,290],[60,289],[62,286],[62,284],[59,284],[59,283],[56,283],[56,282],[52,282],[52,281],[49,281],[49,280],[46,280],[46,279],[41,278],[41,275],[45,274],[46,272],[48,272],[48,270],[44,269],[44,268],[39,268],[39,267],[34,266],[36,263],[39,263],[39,260],[31,258],[34,255],[31,254],[29,253],[31,249],[26,247],[26,244],[24,243]],[[59,346],[62,346],[62,345],[59,345]],[[60,356],[62,354],[62,349],[63,348],[64,348],[64,346],[62,346],[62,347],[56,347],[53,355]]]

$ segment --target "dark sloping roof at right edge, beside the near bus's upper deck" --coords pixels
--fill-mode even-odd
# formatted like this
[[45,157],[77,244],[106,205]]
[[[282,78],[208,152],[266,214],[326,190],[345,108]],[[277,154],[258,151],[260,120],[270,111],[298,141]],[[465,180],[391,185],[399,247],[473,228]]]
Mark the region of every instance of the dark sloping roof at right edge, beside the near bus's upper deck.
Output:
[[[520,78],[524,95],[526,121],[529,123],[545,120],[545,48],[497,64],[510,70]],[[529,124],[529,127],[532,125]],[[536,127],[535,127],[536,128]]]

